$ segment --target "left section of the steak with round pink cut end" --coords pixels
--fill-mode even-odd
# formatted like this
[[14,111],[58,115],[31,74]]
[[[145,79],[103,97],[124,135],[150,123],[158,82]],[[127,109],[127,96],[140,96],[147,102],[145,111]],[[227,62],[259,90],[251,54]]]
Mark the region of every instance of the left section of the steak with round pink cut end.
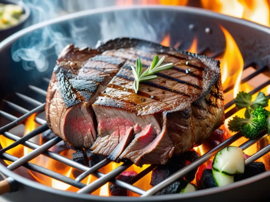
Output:
[[121,58],[97,53],[66,47],[48,87],[45,106],[48,126],[71,148],[90,148],[95,142],[96,120],[91,104],[124,64]]

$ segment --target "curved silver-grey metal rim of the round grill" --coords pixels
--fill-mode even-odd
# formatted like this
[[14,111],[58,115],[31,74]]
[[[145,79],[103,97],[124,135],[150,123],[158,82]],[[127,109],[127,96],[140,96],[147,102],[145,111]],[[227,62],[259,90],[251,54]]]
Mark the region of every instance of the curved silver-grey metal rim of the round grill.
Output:
[[[241,24],[241,25],[245,25],[247,27],[250,27],[251,29],[257,29],[261,32],[265,32],[267,34],[270,34],[270,29],[269,27],[263,26],[263,25],[259,25],[257,23],[254,22],[250,22],[248,20],[244,20],[244,19],[239,19],[239,18],[234,18],[231,16],[227,16],[227,15],[223,15],[220,13],[215,13],[212,11],[207,11],[205,9],[201,9],[201,8],[193,8],[193,7],[188,7],[188,6],[164,6],[164,5],[133,5],[131,6],[110,6],[110,7],[106,7],[106,8],[100,8],[100,9],[92,9],[92,10],[86,10],[86,11],[80,11],[80,12],[76,12],[76,13],[71,13],[65,16],[61,16],[55,19],[51,19],[51,20],[47,20],[45,22],[41,22],[38,23],[36,25],[32,25],[29,26],[25,29],[22,29],[21,31],[9,36],[8,38],[6,38],[5,40],[3,40],[2,42],[0,42],[0,53],[2,52],[2,50],[4,50],[6,47],[10,46],[12,43],[14,43],[16,40],[18,40],[20,37],[24,36],[25,34],[31,33],[32,31],[48,26],[48,25],[53,25],[59,22],[63,22],[63,21],[67,21],[67,20],[72,20],[72,19],[76,19],[76,18],[80,18],[80,17],[85,17],[85,16],[91,16],[91,15],[95,15],[95,14],[102,14],[102,13],[107,13],[107,12],[116,12],[116,11],[122,11],[122,10],[137,10],[137,9],[150,9],[150,10],[162,10],[162,11],[176,11],[176,12],[186,12],[186,13],[192,13],[195,15],[203,15],[203,16],[207,16],[210,18],[214,18],[217,20],[224,20],[227,22],[231,22],[231,23],[237,23],[237,24]],[[63,190],[58,190],[58,189],[54,189],[52,187],[40,184],[38,182],[29,180],[21,175],[18,175],[16,173],[14,173],[13,171],[7,169],[2,163],[0,163],[0,170],[3,174],[12,177],[13,179],[15,179],[16,181],[18,181],[21,184],[25,184],[26,186],[30,186],[34,189],[39,189],[42,191],[46,191],[49,193],[53,193],[53,194],[58,194],[58,195],[63,195],[63,196],[68,196],[68,197],[72,197],[72,198],[77,198],[77,199],[92,199],[92,200],[102,200],[102,201],[135,201],[137,199],[137,197],[102,197],[102,196],[95,196],[95,195],[91,195],[91,194],[79,194],[76,193],[74,194],[73,192],[69,192],[69,191],[63,191]],[[159,196],[150,196],[150,197],[143,197],[142,201],[153,201],[153,200],[175,200],[175,199],[184,199],[184,198],[193,198],[193,197],[198,197],[198,196],[205,196],[205,195],[209,195],[209,194],[215,194],[215,193],[219,193],[219,192],[223,192],[226,190],[230,190],[230,189],[234,189],[240,186],[244,186],[256,181],[259,181],[265,177],[269,177],[270,176],[270,170],[261,173],[259,175],[250,177],[248,179],[245,180],[241,180],[239,182],[234,182],[232,184],[229,184],[227,186],[224,187],[214,187],[214,188],[210,188],[210,189],[205,189],[205,190],[198,190],[196,192],[193,193],[185,193],[185,194],[167,194],[167,195],[159,195]],[[28,182],[28,183],[26,183]],[[106,200],[109,199],[109,200]],[[133,200],[135,199],[135,200]]]

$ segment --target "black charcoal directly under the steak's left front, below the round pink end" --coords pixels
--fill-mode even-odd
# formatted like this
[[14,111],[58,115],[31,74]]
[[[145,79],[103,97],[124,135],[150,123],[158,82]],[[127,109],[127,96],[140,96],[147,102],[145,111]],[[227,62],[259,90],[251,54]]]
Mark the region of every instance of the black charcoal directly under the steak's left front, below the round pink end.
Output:
[[100,161],[104,160],[106,156],[101,156],[97,154],[93,154],[91,151],[86,150],[79,150],[73,153],[73,161],[76,161],[80,164],[89,166],[90,168],[99,163]]

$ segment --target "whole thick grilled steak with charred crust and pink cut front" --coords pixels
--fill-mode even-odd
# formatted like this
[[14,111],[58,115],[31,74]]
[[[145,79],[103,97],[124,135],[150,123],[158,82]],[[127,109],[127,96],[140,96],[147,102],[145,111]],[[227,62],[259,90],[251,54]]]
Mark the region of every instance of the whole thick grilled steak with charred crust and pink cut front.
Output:
[[[63,62],[81,54],[71,51],[59,58],[46,100],[49,127],[70,147],[136,165],[164,164],[224,122],[219,61],[124,38],[87,50],[75,69]],[[174,67],[140,82],[136,94],[131,65],[140,57],[150,66],[155,54]]]

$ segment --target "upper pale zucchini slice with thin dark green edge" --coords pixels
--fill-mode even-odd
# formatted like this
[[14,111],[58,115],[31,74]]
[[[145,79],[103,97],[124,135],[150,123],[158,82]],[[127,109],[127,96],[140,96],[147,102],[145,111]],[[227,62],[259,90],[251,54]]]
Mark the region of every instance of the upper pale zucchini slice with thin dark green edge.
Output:
[[215,155],[212,168],[227,175],[244,173],[245,159],[242,149],[234,146],[221,149]]

